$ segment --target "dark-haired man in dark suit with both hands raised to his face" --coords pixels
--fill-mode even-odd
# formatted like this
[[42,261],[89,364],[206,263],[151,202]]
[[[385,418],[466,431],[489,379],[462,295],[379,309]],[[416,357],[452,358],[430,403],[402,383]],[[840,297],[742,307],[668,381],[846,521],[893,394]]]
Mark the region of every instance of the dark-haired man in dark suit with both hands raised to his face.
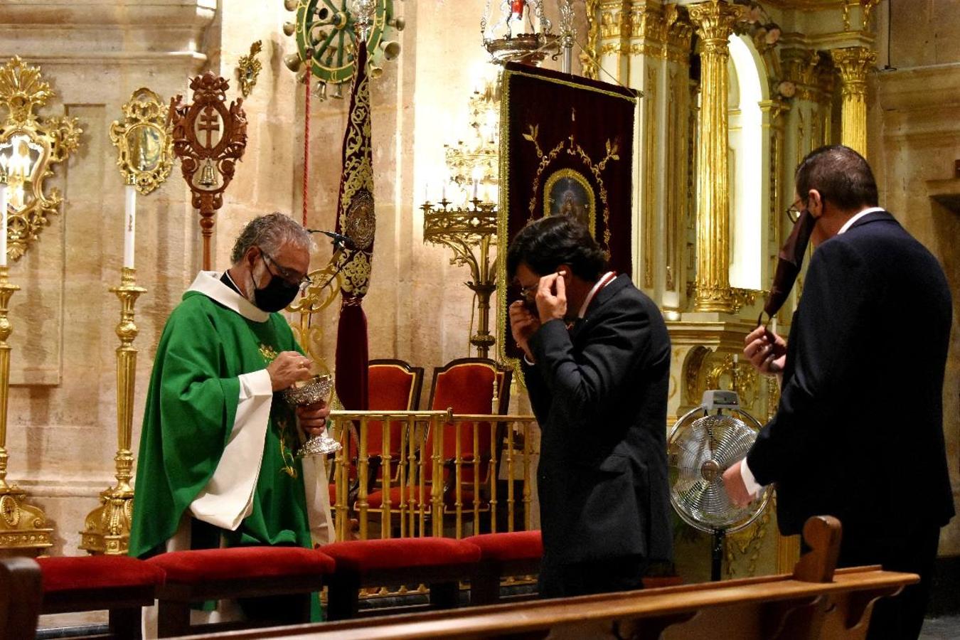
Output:
[[542,434],[540,594],[641,588],[649,561],[673,556],[660,310],[568,216],[521,229],[507,271],[524,296],[511,330]]

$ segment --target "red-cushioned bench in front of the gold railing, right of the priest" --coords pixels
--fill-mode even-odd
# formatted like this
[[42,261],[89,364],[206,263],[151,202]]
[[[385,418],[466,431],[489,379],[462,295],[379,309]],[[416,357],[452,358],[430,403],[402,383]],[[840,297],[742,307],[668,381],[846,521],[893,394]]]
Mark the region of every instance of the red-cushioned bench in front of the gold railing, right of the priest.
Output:
[[459,582],[469,580],[480,559],[476,545],[444,537],[346,540],[321,550],[337,564],[327,582],[329,620],[355,617],[360,589],[365,586],[414,581],[430,588],[432,608],[453,608]]

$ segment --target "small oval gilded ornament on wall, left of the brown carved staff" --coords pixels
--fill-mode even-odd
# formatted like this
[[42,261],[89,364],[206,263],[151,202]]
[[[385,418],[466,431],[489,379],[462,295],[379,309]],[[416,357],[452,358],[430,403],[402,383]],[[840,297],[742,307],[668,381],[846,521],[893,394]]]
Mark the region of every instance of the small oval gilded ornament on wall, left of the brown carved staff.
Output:
[[123,106],[124,119],[110,125],[110,141],[117,148],[117,166],[125,183],[143,195],[160,186],[174,163],[174,139],[166,122],[167,107],[147,87],[140,87]]

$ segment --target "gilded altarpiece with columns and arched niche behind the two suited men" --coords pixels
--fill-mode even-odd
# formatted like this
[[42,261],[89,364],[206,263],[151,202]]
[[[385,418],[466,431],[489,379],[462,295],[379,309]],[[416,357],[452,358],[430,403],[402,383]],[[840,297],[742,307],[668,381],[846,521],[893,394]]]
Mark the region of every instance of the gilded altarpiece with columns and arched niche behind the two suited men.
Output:
[[[587,0],[585,73],[640,89],[636,124],[634,272],[667,318],[673,343],[668,414],[672,424],[707,389],[738,391],[761,421],[774,414],[779,388],[738,360],[765,292],[732,286],[733,163],[730,123],[737,73],[730,54],[739,38],[753,54],[762,98],[761,201],[757,280],[769,286],[790,222],[793,170],[805,154],[830,143],[866,147],[864,95],[876,61],[876,0]],[[595,63],[594,63],[595,61]],[[598,68],[599,67],[599,68]],[[835,118],[834,113],[840,117]],[[780,311],[786,335],[801,277]],[[707,579],[708,541],[678,535],[679,566]],[[685,553],[684,547],[690,546]],[[787,571],[799,556],[796,536],[777,534],[771,508],[729,536],[725,575]],[[703,553],[701,553],[703,552]],[[700,574],[703,574],[702,576]]]

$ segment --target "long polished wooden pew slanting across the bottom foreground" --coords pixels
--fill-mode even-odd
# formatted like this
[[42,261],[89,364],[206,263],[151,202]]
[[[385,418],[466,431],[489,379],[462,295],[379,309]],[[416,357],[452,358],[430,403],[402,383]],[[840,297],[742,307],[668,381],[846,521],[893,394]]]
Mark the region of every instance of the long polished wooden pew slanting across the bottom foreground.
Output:
[[862,638],[873,603],[919,579],[876,566],[834,572],[839,533],[835,518],[811,518],[804,537],[813,551],[792,575],[198,637]]

